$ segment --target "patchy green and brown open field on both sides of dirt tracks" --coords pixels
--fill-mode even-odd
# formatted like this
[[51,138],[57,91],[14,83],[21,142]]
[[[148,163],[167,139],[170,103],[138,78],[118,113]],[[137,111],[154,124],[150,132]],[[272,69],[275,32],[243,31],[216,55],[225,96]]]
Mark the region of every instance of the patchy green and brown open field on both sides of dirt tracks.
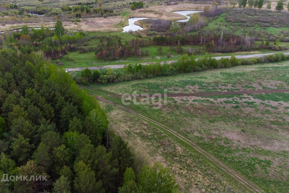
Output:
[[[194,93],[289,88],[289,62],[238,66],[169,77],[84,87],[121,104],[123,93]],[[188,145],[141,118],[102,103],[110,128],[148,162],[175,173],[183,192],[246,192],[230,176]],[[153,105],[126,106],[197,143],[266,192],[289,191],[289,93],[168,98]],[[137,152],[137,150],[136,150]]]

